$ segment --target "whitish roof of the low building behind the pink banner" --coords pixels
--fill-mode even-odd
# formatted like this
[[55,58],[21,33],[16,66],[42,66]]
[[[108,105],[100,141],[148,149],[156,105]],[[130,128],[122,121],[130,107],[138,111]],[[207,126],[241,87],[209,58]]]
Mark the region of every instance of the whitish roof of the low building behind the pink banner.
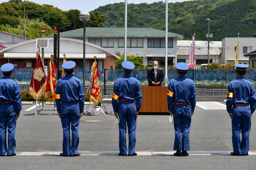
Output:
[[[191,41],[177,41],[177,55],[189,55]],[[221,41],[210,42],[209,55],[220,55]],[[195,55],[208,55],[208,42],[195,41]]]

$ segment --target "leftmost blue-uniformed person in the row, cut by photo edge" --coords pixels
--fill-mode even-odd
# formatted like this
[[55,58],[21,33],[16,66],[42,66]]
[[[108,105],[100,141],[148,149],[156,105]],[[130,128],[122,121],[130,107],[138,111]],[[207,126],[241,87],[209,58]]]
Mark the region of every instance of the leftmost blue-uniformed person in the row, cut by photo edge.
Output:
[[[19,118],[21,105],[20,86],[11,79],[14,65],[7,63],[1,66],[4,77],[0,80],[0,156],[15,156],[14,149],[16,121]],[[8,149],[6,129],[8,128]]]

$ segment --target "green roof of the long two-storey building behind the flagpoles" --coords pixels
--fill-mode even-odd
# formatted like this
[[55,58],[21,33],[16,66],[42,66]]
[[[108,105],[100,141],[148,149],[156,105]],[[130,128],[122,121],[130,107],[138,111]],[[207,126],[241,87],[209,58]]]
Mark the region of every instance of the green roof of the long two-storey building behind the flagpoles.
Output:
[[[60,37],[83,37],[84,29],[60,33]],[[86,37],[124,37],[124,27],[86,27]],[[49,35],[49,37],[52,37]],[[127,28],[127,37],[165,37],[165,31],[154,28]],[[183,39],[183,35],[168,32],[168,37]]]

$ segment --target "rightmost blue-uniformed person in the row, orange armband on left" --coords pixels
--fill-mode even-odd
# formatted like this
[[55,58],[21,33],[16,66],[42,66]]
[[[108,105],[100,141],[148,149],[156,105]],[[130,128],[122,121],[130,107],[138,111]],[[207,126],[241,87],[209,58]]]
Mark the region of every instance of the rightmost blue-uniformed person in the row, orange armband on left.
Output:
[[[249,151],[251,116],[255,111],[256,96],[253,84],[244,78],[248,66],[236,64],[235,67],[237,79],[229,83],[226,102],[227,111],[231,118],[234,149],[230,154],[246,156]],[[240,133],[242,133],[242,140]]]

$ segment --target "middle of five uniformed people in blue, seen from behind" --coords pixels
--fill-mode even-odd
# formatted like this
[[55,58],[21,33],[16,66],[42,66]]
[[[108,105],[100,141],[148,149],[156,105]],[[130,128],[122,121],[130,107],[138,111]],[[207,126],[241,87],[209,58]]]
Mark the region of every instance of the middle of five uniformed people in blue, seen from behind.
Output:
[[[136,123],[140,106],[142,105],[142,90],[139,80],[131,76],[135,68],[130,61],[122,62],[124,76],[114,82],[112,106],[114,115],[119,122],[119,156],[127,156],[126,124],[129,134],[128,156],[136,156]],[[118,114],[118,116],[117,116]]]

